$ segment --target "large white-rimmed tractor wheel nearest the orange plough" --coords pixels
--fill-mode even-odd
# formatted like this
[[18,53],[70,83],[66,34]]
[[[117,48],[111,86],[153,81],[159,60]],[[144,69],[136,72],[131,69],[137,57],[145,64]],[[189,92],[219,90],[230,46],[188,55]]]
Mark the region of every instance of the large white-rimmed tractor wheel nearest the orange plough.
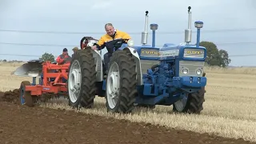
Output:
[[69,106],[91,108],[94,105],[96,85],[96,64],[93,50],[86,47],[74,53],[70,63],[67,90]]

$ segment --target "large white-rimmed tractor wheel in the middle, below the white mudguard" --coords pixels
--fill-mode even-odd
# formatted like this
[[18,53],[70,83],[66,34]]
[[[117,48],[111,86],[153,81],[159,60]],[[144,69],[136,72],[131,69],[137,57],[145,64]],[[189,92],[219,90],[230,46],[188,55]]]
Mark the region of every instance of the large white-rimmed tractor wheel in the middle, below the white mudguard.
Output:
[[136,64],[132,54],[115,51],[110,58],[106,78],[106,107],[108,112],[130,113],[137,94]]

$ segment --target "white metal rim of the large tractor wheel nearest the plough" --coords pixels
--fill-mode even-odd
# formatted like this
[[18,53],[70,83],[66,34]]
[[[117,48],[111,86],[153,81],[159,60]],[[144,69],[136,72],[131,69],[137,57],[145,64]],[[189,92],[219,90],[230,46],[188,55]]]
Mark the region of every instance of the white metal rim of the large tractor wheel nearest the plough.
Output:
[[70,66],[68,90],[70,101],[76,102],[81,90],[81,66],[78,60],[74,60]]

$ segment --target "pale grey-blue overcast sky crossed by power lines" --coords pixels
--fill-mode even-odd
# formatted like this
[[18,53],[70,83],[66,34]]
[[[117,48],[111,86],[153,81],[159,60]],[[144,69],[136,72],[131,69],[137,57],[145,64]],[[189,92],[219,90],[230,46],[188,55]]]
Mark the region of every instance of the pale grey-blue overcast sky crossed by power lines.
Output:
[[[192,22],[204,22],[202,41],[214,42],[218,49],[227,50],[231,66],[256,66],[254,0],[0,0],[0,59],[27,61],[38,58],[32,55],[45,52],[62,54],[64,47],[72,54],[72,48],[79,46],[82,37],[100,38],[105,34],[107,22],[112,22],[118,30],[132,33],[135,44],[140,44],[146,10],[149,11],[149,22],[158,23],[156,45],[179,44],[184,42],[188,6],[192,7]],[[194,25],[192,27],[192,42],[196,42],[196,29]],[[82,34],[22,33],[19,30]],[[151,35],[148,44],[151,44]],[[246,54],[252,56],[241,56]]]

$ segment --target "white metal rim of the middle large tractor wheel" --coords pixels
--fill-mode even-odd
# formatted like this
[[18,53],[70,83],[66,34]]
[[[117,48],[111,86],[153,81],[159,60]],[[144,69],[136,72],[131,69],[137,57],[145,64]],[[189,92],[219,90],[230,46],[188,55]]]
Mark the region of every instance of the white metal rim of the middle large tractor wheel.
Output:
[[109,74],[106,82],[106,98],[110,109],[114,109],[117,105],[120,90],[120,74],[119,67],[116,62],[110,66]]

